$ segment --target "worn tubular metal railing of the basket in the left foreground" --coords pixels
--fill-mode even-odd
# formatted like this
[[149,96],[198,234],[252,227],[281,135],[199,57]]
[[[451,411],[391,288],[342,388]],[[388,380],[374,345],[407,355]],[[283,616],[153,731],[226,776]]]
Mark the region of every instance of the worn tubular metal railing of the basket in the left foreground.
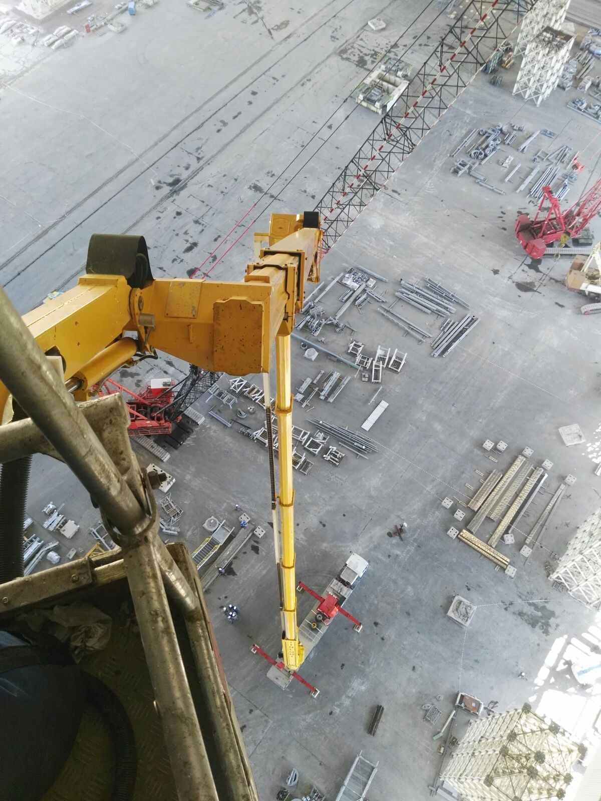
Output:
[[[0,462],[28,453],[58,455],[99,505],[103,524],[122,549],[179,798],[219,801],[167,595],[186,623],[198,673],[214,683],[219,682],[215,655],[209,654],[201,633],[205,621],[199,595],[159,537],[159,515],[147,473],[131,451],[123,399],[111,395],[76,405],[2,288],[0,380],[30,416],[0,426]],[[62,575],[63,567],[55,570]],[[75,563],[68,567],[73,572]],[[22,595],[24,581],[7,582],[2,595],[7,599],[19,591]],[[228,718],[224,693],[212,687],[208,698],[227,797],[256,801],[249,787],[252,779],[249,782],[240,755],[232,748],[231,731],[224,727]]]

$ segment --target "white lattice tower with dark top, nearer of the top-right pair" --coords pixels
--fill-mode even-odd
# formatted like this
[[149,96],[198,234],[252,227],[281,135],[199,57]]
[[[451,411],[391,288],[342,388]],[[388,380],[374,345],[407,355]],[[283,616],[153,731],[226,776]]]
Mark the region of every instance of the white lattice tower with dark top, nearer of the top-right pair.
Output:
[[574,36],[548,26],[543,28],[526,46],[513,94],[540,106],[557,87],[573,44]]

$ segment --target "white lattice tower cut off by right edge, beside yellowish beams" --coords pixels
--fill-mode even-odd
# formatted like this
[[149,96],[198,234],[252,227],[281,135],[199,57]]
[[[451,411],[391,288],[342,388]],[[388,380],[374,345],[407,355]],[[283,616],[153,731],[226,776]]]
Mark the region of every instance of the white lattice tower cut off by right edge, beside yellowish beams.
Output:
[[601,509],[579,526],[549,580],[591,609],[601,609]]

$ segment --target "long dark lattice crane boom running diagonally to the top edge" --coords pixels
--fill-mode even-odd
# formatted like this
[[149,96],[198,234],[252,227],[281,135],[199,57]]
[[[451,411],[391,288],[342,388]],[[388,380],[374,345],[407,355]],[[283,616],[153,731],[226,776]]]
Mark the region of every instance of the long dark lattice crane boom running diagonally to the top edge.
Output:
[[317,203],[332,248],[490,56],[541,0],[471,0],[397,103]]

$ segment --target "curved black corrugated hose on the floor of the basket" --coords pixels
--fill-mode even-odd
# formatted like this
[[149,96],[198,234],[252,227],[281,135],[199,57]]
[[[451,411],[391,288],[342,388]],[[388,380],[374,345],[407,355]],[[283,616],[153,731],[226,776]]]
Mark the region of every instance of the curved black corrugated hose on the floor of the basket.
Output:
[[109,801],[131,801],[134,797],[138,760],[130,719],[123,704],[110,687],[85,671],[82,671],[82,676],[86,687],[86,700],[103,715],[111,731],[115,749],[115,780]]

